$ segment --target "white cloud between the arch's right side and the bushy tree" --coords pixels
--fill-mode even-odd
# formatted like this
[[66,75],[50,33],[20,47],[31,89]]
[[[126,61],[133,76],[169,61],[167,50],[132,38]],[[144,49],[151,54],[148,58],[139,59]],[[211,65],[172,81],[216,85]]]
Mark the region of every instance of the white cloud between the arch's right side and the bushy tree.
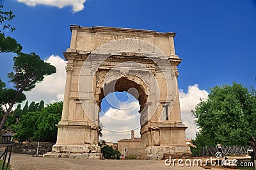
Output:
[[202,100],[207,100],[208,93],[205,90],[199,89],[198,84],[188,86],[188,93],[184,93],[183,89],[179,90],[180,93],[180,112],[182,122],[188,127],[186,129],[187,138],[195,138],[198,128],[194,124],[195,118],[192,116],[191,110]]

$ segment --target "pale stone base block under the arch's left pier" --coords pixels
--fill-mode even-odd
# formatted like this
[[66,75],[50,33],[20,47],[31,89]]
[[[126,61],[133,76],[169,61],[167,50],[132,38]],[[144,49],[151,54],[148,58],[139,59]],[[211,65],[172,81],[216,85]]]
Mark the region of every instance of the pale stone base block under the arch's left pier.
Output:
[[68,121],[66,122],[67,125],[60,125],[61,121],[57,125],[57,142],[52,146],[52,152],[45,154],[44,157],[100,158],[100,147],[96,143],[97,128],[88,125],[68,125]]

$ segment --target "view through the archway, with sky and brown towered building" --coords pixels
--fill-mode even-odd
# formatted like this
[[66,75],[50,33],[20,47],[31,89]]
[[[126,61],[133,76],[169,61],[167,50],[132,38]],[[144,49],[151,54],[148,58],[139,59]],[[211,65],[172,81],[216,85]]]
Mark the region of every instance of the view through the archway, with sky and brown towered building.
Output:
[[102,137],[99,137],[99,144],[108,143],[126,156],[136,156],[141,145],[140,104],[138,91],[134,88],[127,91],[132,91],[136,97],[126,91],[116,91],[102,99],[99,113]]

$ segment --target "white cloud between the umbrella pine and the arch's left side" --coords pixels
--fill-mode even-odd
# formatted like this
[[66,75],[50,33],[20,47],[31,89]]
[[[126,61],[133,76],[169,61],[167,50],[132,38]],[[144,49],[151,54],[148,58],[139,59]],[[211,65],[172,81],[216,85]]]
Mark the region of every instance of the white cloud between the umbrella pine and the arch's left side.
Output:
[[40,100],[44,100],[45,104],[50,104],[63,100],[66,81],[66,62],[60,56],[53,55],[46,62],[56,67],[56,73],[46,76],[44,81],[36,83],[35,88],[25,92],[29,102],[40,102]]

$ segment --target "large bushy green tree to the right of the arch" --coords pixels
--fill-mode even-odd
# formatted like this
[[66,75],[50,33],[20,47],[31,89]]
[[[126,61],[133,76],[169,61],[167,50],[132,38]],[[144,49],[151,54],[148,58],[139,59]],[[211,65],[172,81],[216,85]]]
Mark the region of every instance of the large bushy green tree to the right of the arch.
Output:
[[195,141],[197,150],[202,146],[247,146],[251,135],[256,135],[256,95],[235,82],[232,86],[216,86],[206,101],[192,111],[195,124],[200,128]]

